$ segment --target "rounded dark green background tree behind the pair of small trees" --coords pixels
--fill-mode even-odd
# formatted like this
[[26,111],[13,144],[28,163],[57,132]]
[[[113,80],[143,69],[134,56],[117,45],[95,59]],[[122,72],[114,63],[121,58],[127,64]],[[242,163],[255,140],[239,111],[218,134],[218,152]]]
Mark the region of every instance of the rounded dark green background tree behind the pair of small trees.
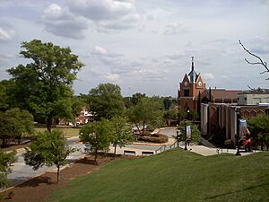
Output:
[[91,89],[87,104],[97,114],[97,119],[111,119],[123,115],[125,111],[120,87],[113,83],[100,83],[97,88]]

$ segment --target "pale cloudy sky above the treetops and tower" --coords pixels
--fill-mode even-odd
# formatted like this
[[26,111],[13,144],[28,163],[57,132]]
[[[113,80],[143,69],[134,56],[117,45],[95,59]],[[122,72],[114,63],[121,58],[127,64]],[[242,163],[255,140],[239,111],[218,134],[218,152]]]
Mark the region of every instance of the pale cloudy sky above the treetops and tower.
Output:
[[70,47],[84,66],[74,92],[115,83],[122,94],[178,94],[191,69],[206,87],[269,88],[269,0],[0,0],[0,80],[6,69],[30,62],[22,41]]

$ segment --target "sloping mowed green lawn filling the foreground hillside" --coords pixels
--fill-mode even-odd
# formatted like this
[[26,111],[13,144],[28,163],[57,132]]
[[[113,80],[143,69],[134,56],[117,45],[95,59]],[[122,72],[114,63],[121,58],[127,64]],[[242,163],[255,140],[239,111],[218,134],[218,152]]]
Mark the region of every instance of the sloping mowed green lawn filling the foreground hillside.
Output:
[[48,201],[269,201],[269,153],[204,157],[171,150],[109,162]]

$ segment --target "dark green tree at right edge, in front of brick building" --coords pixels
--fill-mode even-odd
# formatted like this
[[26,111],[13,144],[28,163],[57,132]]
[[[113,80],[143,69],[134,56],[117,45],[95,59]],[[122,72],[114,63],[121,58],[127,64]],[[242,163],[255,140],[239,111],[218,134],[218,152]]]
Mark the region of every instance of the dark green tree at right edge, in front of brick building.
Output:
[[269,145],[269,115],[259,114],[256,117],[247,119],[247,127],[250,131],[253,142],[259,145]]

